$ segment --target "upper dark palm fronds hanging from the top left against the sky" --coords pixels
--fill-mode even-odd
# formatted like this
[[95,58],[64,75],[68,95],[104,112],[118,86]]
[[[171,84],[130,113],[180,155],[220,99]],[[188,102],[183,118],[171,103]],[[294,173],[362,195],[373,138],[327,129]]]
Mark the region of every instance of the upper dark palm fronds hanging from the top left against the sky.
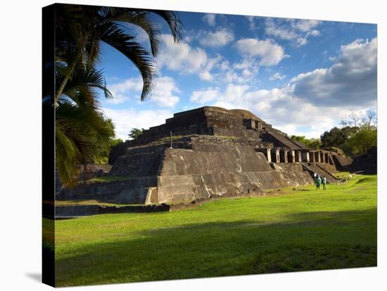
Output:
[[[173,11],[58,4],[56,58],[68,67],[56,91],[56,100],[75,67],[93,67],[99,60],[101,43],[105,43],[120,51],[139,69],[144,83],[141,101],[144,101],[155,86],[153,57],[158,55],[161,44],[161,32],[157,22],[153,21],[153,14],[167,22],[175,42],[179,42],[182,38],[182,22]],[[125,24],[137,25],[146,32],[151,52],[137,42]]]

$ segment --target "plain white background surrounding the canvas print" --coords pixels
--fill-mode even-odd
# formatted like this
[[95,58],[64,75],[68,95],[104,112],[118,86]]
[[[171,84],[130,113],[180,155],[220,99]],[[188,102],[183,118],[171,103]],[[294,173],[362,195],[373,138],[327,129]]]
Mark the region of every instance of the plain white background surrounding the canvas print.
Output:
[[[72,1],[61,1],[71,3]],[[386,284],[386,198],[381,149],[386,144],[386,11],[383,1],[210,1],[103,0],[82,4],[165,10],[232,13],[378,24],[378,267],[258,276],[174,280],[73,287],[71,290],[382,290]],[[42,7],[51,1],[3,1],[0,34],[0,287],[1,290],[49,290],[41,280],[41,56]],[[384,50],[384,51],[383,51]],[[383,78],[384,77],[384,78]],[[384,87],[384,88],[383,88]],[[383,90],[384,89],[384,90]],[[384,105],[383,105],[384,103]],[[384,276],[383,276],[384,273]],[[386,289],[384,289],[386,290]]]

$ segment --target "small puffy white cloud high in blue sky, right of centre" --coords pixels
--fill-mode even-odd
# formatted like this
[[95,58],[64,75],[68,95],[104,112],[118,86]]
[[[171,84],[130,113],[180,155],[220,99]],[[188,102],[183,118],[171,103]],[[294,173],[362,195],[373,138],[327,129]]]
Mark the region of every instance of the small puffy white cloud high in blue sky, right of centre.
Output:
[[239,39],[236,48],[245,57],[260,58],[259,65],[277,65],[283,58],[287,58],[284,48],[270,39]]

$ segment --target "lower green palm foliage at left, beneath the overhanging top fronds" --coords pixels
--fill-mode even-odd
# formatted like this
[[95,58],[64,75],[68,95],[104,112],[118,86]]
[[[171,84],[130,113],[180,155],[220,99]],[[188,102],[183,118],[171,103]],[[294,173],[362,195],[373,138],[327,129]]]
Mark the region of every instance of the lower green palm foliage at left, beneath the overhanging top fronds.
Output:
[[[65,67],[56,65],[56,83],[63,82]],[[56,101],[56,166],[65,186],[75,186],[80,176],[80,167],[93,163],[101,147],[108,147],[114,138],[111,122],[103,117],[97,99],[97,91],[103,91],[107,98],[111,93],[106,89],[101,71],[75,67],[63,93]],[[43,99],[44,109],[53,105],[52,94]]]

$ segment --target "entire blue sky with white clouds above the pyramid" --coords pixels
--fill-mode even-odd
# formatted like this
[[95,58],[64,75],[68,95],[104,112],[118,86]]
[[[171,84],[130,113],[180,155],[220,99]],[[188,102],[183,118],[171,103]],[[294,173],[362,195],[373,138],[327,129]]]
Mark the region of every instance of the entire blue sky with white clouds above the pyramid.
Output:
[[[288,134],[318,137],[351,112],[376,108],[376,25],[179,12],[174,44],[163,20],[158,82],[141,102],[141,77],[103,46],[100,67],[112,100],[101,98],[118,137],[165,122],[174,112],[243,108]],[[127,29],[148,47],[145,32]]]

